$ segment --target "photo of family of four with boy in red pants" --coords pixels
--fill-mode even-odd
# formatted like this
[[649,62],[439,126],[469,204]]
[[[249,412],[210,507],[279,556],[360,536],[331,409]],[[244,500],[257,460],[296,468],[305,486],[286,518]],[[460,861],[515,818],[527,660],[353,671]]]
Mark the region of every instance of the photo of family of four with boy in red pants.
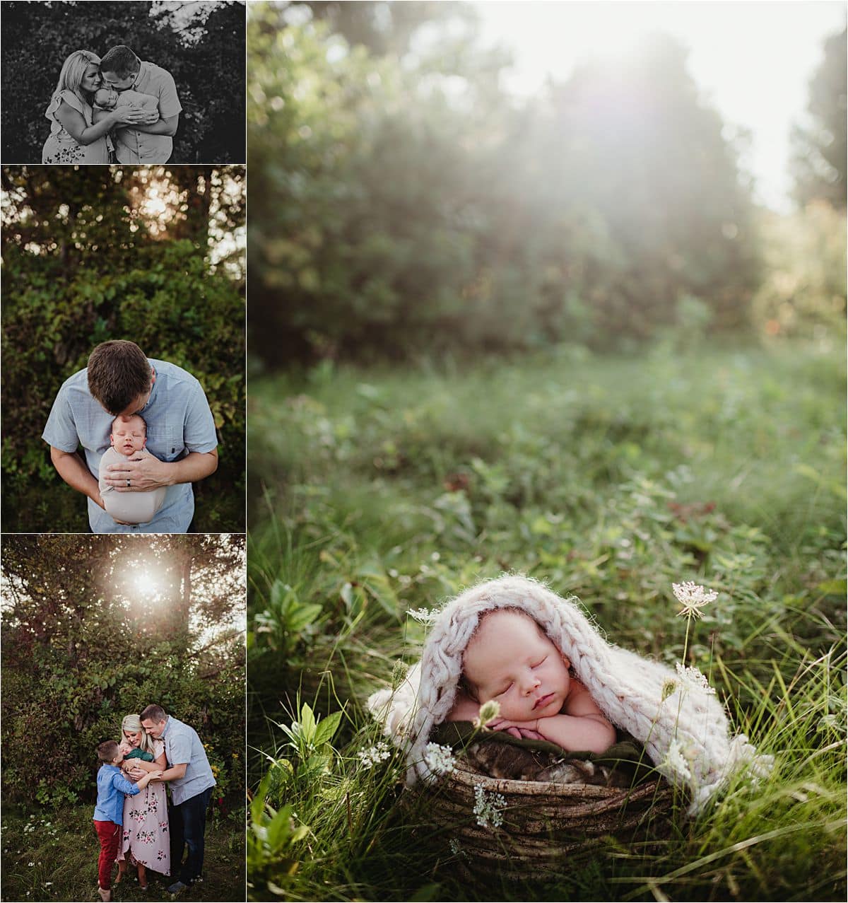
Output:
[[0,557],[3,898],[243,899],[244,536]]

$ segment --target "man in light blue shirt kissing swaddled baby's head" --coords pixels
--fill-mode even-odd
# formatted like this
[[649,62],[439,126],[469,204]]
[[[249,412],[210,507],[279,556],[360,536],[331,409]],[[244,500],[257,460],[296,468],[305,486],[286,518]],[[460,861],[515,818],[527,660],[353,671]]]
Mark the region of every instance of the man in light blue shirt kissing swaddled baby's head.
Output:
[[[94,476],[110,447],[113,420],[133,414],[147,423],[146,449],[110,464],[105,481],[116,492],[167,487],[161,508],[146,524],[121,524],[106,514]],[[91,352],[88,367],[65,380],[41,438],[60,477],[88,496],[92,533],[186,533],[194,516],[191,483],[217,470],[215,420],[198,380],[174,364],[147,358],[131,341],[103,342]]]

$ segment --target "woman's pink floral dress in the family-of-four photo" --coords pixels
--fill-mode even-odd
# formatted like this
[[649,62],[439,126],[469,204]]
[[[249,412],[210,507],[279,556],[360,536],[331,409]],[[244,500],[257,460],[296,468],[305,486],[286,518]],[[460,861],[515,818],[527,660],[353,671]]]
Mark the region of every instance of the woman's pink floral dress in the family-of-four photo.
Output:
[[[153,740],[153,758],[159,759],[165,744]],[[117,861],[126,859],[163,875],[171,874],[171,834],[168,832],[168,799],[163,781],[151,781],[135,796],[124,796],[124,833]]]

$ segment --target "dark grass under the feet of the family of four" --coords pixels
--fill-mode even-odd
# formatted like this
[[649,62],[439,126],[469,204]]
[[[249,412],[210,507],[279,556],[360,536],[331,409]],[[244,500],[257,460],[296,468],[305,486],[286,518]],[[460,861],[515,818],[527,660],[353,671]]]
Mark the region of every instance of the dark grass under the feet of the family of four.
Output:
[[[93,805],[56,812],[3,807],[4,900],[99,900],[97,856],[100,846],[91,823]],[[27,825],[34,825],[34,830]],[[117,870],[113,871],[115,880]],[[171,899],[172,879],[148,870],[150,889],[139,889],[134,874],[114,889],[115,900]],[[207,821],[204,880],[180,900],[244,899],[244,827],[236,812]]]

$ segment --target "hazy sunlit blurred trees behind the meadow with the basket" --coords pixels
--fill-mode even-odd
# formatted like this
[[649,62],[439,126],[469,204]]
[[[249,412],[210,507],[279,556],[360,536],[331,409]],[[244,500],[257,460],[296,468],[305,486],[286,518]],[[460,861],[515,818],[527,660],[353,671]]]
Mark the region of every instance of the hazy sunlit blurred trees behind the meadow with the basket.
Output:
[[[792,317],[764,301],[767,267],[800,262],[775,242],[815,244],[823,215],[798,214],[789,237],[756,207],[744,131],[666,35],[521,101],[468,4],[256,4],[248,46],[263,366],[627,349],[668,330],[782,334],[811,304],[813,321],[843,315],[838,242],[826,276],[792,277],[826,282],[825,301],[793,295]],[[838,156],[840,101],[814,94],[821,122],[842,116],[826,147]]]

